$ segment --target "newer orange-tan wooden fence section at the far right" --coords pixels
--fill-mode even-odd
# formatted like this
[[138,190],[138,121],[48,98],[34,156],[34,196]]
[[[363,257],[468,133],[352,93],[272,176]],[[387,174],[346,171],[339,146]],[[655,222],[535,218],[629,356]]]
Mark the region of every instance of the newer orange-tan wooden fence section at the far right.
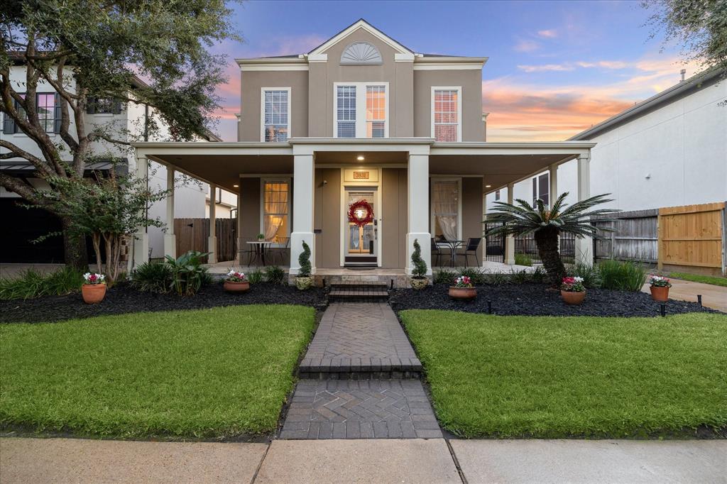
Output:
[[724,202],[659,209],[659,270],[665,265],[724,273]]

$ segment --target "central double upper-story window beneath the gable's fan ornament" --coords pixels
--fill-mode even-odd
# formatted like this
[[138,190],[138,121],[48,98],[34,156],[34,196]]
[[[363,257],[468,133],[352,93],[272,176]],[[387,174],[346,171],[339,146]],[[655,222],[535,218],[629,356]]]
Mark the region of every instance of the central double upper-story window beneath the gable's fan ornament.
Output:
[[388,88],[385,82],[335,84],[334,137],[388,137]]

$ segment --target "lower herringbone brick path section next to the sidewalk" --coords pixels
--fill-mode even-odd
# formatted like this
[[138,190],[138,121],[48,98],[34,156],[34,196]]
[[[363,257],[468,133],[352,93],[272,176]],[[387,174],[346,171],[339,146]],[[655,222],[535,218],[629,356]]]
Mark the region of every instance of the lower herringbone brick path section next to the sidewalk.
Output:
[[419,380],[302,380],[282,439],[442,437]]

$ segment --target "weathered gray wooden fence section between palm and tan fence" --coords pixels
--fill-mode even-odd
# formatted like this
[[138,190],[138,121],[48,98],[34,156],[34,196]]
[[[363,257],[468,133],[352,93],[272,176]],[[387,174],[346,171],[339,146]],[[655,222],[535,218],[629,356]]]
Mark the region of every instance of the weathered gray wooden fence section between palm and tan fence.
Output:
[[599,222],[594,217],[596,227],[613,227],[616,232],[599,230],[599,238],[594,241],[596,259],[622,259],[656,263],[658,243],[656,239],[656,218],[659,209],[622,211],[609,218],[618,222]]

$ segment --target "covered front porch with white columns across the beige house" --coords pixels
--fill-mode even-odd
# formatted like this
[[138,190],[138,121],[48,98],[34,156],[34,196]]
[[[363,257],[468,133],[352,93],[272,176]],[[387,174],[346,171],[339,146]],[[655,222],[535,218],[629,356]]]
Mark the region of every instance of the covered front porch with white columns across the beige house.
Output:
[[[433,263],[445,267],[451,259],[433,257],[437,255],[433,250],[447,251],[445,246],[453,241],[459,241],[458,254],[472,246],[470,266],[476,261],[488,272],[526,269],[515,266],[514,238],[502,241],[497,253],[491,241],[483,238],[485,195],[500,187],[511,188],[544,169],[551,173],[551,193],[557,193],[558,165],[577,158],[577,198],[587,198],[593,145],[294,138],[286,143],[142,142],[134,146],[137,173],[142,177],[153,160],[164,164],[170,177],[182,172],[238,195],[239,257],[234,264],[218,265],[213,252],[209,256],[213,272],[246,265],[251,243],[260,235],[276,251],[275,263],[286,266],[289,275],[300,270],[298,257],[305,242],[318,281],[388,278],[387,282],[394,280],[395,286],[401,286],[411,274],[415,240],[430,274]],[[508,190],[510,202],[512,193]],[[361,224],[348,213],[357,200],[366,201],[372,215]],[[173,203],[167,206],[169,222],[174,219]],[[214,212],[212,207],[210,247],[216,241]],[[174,237],[168,228],[166,254],[174,255]],[[138,233],[134,264],[147,259],[145,244],[148,236]],[[582,239],[575,245],[577,259],[589,263],[592,242]],[[455,265],[464,262],[457,257]]]

